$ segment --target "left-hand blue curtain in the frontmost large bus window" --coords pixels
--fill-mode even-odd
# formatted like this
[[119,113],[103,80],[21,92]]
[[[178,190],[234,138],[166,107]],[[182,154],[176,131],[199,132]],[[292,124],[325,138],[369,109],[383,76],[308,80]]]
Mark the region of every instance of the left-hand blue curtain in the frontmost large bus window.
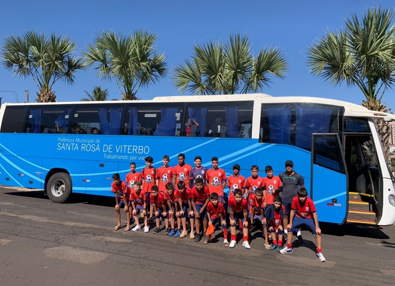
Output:
[[289,144],[291,138],[291,107],[266,108],[269,119],[270,142]]

